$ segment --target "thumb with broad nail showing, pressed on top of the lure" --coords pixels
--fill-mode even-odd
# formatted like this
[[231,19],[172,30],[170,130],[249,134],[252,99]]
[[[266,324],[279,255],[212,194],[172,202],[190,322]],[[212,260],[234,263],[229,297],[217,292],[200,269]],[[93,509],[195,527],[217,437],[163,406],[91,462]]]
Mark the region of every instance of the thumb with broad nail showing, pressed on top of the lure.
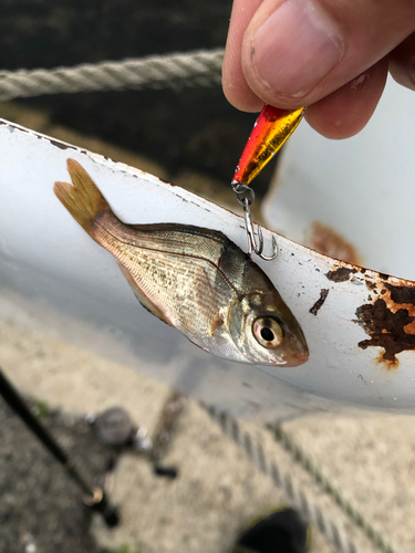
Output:
[[242,70],[262,101],[312,104],[384,58],[415,30],[408,0],[264,0],[242,41]]

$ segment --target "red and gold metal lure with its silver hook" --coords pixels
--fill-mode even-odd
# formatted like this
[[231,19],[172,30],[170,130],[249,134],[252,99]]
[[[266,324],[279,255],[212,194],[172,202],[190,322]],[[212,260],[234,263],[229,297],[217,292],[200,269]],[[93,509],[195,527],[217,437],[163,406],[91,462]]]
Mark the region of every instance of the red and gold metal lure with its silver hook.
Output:
[[305,109],[307,107],[300,107],[294,111],[280,109],[266,104],[259,114],[256,124],[253,125],[252,132],[243,148],[231,181],[238,201],[243,207],[249,252],[255,251],[257,255],[268,261],[277,257],[277,242],[274,237],[272,237],[273,254],[270,257],[264,255],[262,253],[262,231],[261,228],[258,227],[259,244],[257,244],[257,238],[253,231],[253,223],[250,215],[250,206],[253,202],[255,194],[248,185],[292,135],[302,119]]

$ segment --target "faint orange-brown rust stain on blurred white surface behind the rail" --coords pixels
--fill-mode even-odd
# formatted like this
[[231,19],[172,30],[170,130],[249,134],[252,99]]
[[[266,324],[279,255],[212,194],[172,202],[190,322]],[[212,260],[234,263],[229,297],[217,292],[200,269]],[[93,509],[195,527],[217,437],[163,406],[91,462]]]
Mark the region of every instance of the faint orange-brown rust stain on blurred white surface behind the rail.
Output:
[[314,221],[309,231],[308,242],[311,248],[320,253],[346,261],[347,263],[360,263],[360,255],[355,247],[326,225]]

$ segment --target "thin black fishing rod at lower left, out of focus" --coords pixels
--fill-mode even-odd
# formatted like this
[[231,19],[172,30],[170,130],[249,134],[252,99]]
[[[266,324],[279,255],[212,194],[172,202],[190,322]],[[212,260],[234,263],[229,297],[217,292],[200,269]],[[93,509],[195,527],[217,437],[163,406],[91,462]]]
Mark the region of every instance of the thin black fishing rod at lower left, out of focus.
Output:
[[105,491],[100,487],[92,486],[87,480],[85,480],[69,455],[62,449],[40,420],[31,413],[23,398],[20,396],[11,382],[6,377],[1,368],[0,396],[3,397],[4,401],[23,420],[33,435],[61,463],[66,474],[81,488],[83,492],[83,503],[87,508],[100,513],[107,526],[113,528],[118,524],[120,517],[116,509],[110,503]]

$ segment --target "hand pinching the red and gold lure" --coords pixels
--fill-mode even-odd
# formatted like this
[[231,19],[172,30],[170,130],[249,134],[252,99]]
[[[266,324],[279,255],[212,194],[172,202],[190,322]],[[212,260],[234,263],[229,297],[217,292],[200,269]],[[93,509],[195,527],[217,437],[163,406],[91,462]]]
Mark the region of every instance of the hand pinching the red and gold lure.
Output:
[[347,138],[388,70],[415,91],[414,0],[234,0],[222,83],[239,109],[309,105],[315,131]]

